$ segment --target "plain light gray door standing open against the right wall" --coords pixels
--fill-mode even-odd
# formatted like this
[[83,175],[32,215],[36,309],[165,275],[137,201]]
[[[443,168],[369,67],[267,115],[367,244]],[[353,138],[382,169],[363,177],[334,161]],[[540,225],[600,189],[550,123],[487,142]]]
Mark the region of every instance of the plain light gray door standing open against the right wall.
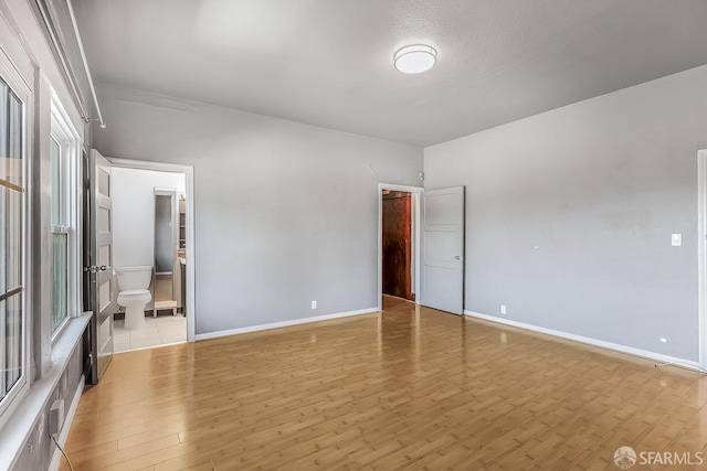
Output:
[[464,313],[464,186],[422,193],[420,302]]

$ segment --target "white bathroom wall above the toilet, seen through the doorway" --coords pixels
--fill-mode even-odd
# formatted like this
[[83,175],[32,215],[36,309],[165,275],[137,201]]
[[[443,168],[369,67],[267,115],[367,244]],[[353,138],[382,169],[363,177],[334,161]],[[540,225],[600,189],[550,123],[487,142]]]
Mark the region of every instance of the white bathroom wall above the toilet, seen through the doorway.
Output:
[[[113,169],[113,265],[155,264],[155,186],[187,188],[182,173]],[[179,197],[179,196],[178,196]]]

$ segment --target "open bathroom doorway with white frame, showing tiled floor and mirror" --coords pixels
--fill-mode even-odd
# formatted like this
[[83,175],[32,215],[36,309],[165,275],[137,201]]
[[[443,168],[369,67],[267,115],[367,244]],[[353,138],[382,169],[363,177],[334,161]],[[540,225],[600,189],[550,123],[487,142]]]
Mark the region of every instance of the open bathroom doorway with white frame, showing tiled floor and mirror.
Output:
[[108,161],[115,185],[114,265],[151,270],[145,327],[125,329],[124,314],[118,312],[115,352],[193,342],[193,169],[126,159]]

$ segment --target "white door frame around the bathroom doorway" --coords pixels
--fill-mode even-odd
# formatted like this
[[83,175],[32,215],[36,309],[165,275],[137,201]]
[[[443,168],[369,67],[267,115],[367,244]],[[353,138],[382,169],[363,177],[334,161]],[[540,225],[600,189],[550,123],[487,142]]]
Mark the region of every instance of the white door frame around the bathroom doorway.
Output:
[[196,256],[194,256],[194,168],[192,165],[182,165],[178,163],[150,162],[145,160],[117,159],[106,157],[114,167],[124,169],[152,170],[158,172],[183,173],[186,176],[186,196],[187,196],[187,341],[196,342],[197,340],[197,317],[196,317]]

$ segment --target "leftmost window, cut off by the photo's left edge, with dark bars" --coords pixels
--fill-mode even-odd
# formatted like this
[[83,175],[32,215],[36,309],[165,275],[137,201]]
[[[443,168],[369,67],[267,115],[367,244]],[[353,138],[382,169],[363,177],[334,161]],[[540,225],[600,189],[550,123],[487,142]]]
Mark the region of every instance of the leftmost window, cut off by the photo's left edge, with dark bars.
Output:
[[0,77],[0,403],[24,384],[24,104]]

